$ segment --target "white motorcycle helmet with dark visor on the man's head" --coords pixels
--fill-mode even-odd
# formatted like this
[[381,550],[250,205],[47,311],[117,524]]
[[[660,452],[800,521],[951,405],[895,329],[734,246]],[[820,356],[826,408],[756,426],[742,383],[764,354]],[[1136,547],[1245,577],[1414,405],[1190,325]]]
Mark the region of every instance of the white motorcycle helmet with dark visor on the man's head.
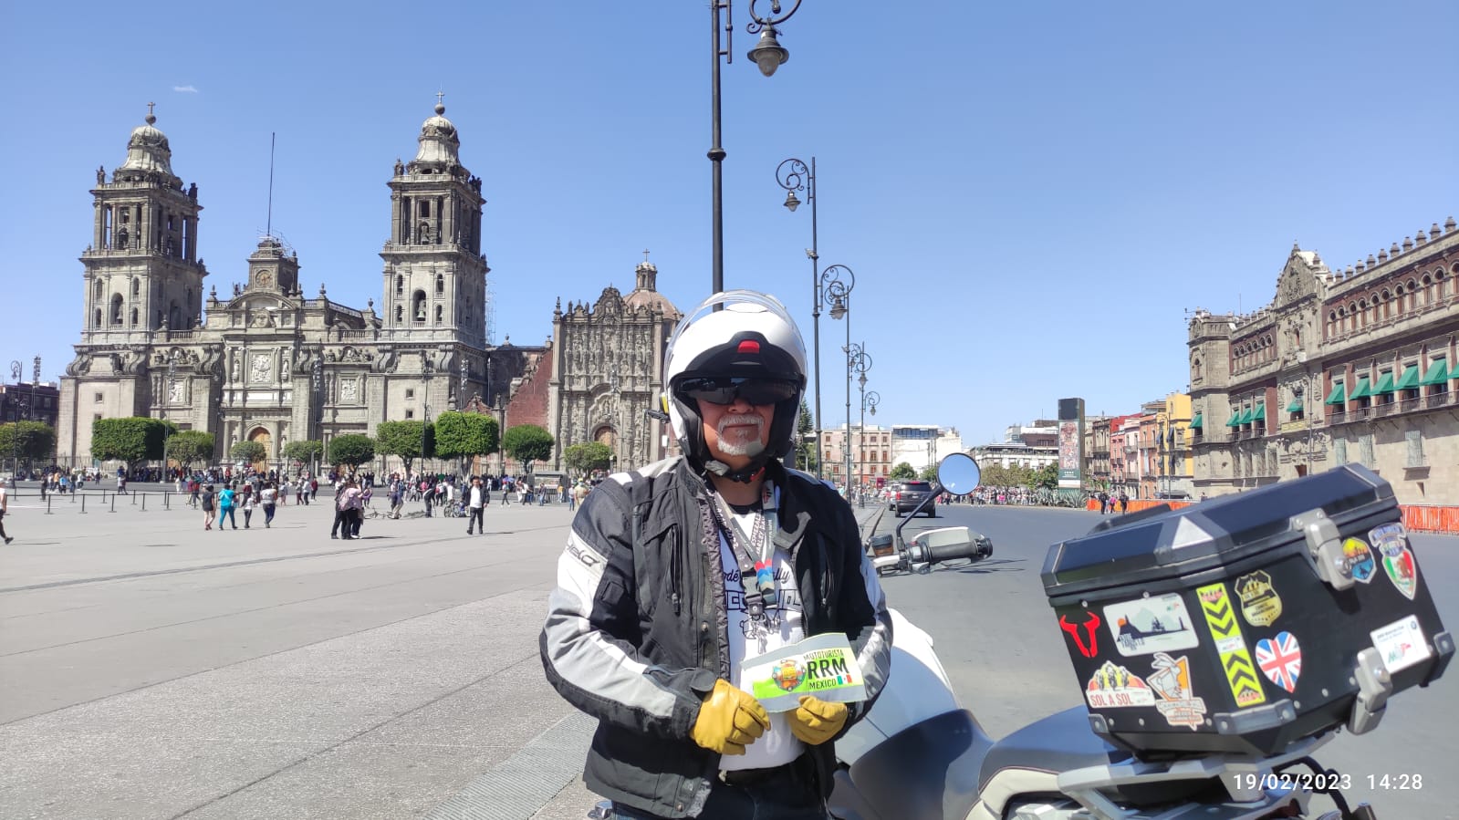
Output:
[[[724,309],[713,311],[715,305]],[[772,458],[783,458],[795,448],[795,420],[805,395],[805,341],[773,296],[728,290],[702,302],[668,340],[664,379],[664,409],[674,436],[697,470],[750,481]],[[751,401],[773,403],[775,417],[767,446],[750,465],[731,470],[709,452],[694,395],[724,397],[721,403],[728,403],[741,385],[757,391],[756,397],[746,395]]]

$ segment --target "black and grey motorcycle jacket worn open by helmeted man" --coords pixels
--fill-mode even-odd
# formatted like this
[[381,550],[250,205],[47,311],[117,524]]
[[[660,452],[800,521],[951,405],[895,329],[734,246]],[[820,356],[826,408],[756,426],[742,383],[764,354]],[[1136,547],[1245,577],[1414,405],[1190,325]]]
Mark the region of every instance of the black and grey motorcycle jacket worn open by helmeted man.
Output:
[[[856,652],[868,699],[849,705],[851,727],[891,670],[881,585],[845,499],[776,461],[766,477],[781,489],[775,540],[791,554],[805,635],[843,632]],[[605,479],[573,519],[540,639],[549,683],[598,719],[588,788],[661,817],[699,814],[719,773],[719,754],[689,737],[715,680],[730,680],[709,503],[705,480],[683,458]],[[835,749],[807,749],[829,795]]]

